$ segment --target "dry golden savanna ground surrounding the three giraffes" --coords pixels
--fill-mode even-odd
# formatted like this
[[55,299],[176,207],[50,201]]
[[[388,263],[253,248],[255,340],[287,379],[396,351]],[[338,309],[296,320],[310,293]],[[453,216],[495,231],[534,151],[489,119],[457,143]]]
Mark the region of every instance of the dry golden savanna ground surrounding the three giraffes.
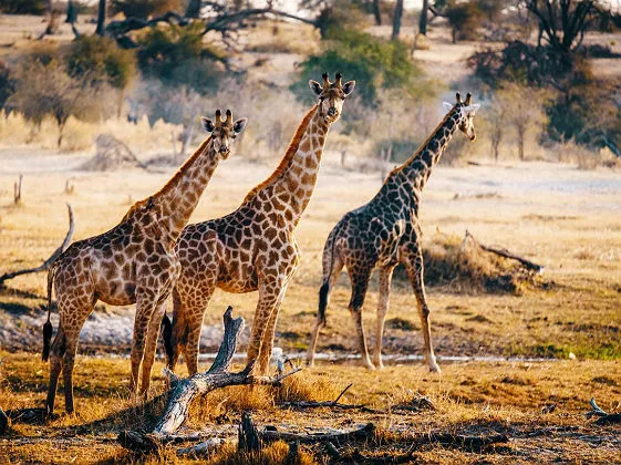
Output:
[[[456,59],[445,60],[457,49],[449,50],[446,41],[435,46],[436,52],[443,50],[439,60],[437,53],[432,53],[434,49],[422,53],[427,69],[435,66],[448,73],[463,68]],[[474,49],[474,44],[463,46]],[[469,50],[463,52],[465,56]],[[276,73],[292,60],[289,53],[275,54],[267,69]],[[138,153],[141,158],[157,155],[154,145],[168,146],[169,135],[159,134],[159,140],[156,132],[157,126],[147,134],[151,149]],[[75,211],[74,239],[90,237],[116,225],[132,202],[158,189],[174,169],[80,170],[90,156],[91,152],[59,154],[3,141],[0,273],[37,266],[58,247],[66,230],[65,203]],[[345,211],[362,205],[381,185],[379,173],[343,169],[339,157],[329,140],[318,186],[298,231],[300,269],[279,317],[276,344],[286,353],[303,353],[307,348],[328,232]],[[249,158],[234,153],[220,165],[193,220],[236,208],[247,190],[277,164],[275,158],[259,156],[252,163]],[[24,175],[23,198],[21,205],[13,205],[12,186],[19,174]],[[68,179],[72,194],[64,192]],[[488,293],[463,282],[429,286],[432,334],[442,374],[428,373],[418,361],[396,358],[421,354],[422,337],[410,286],[395,279],[384,335],[384,353],[395,358],[386,362],[385,370],[368,372],[355,360],[320,360],[314,369],[304,369],[282,388],[229,388],[209,394],[194,405],[187,428],[235,436],[241,412],[251,410],[260,426],[272,424],[299,432],[349,430],[373,422],[379,427],[376,435],[366,443],[351,445],[370,455],[405,451],[414,434],[498,432],[506,433],[510,442],[483,451],[428,445],[417,450],[413,459],[621,462],[620,426],[594,425],[584,416],[590,397],[609,412],[621,409],[620,194],[619,173],[604,168],[579,170],[573,165],[507,159],[462,167],[441,164],[423,197],[421,221],[426,248],[433,250],[446,238],[458,244],[467,229],[480,242],[507,247],[544,265],[544,275],[524,281],[513,292]],[[40,361],[39,352],[44,296],[44,273],[7,281],[0,290],[0,406],[6,411],[43,405],[48,364]],[[226,307],[231,304],[234,314],[242,316],[249,327],[256,299],[256,293],[217,291],[205,317],[203,352],[217,349]],[[343,275],[332,293],[328,328],[319,340],[324,359],[339,359],[355,351],[348,300],[349,283]],[[370,345],[374,341],[376,301],[373,281],[364,310]],[[163,410],[161,404],[143,409],[126,391],[130,363],[124,356],[128,354],[133,314],[133,308],[97,307],[83,332],[82,355],[75,366],[80,416],[61,416],[44,424],[14,418],[8,435],[0,438],[0,462],[186,461],[176,456],[178,446],[144,457],[116,443],[120,432],[148,426]],[[58,323],[55,312],[52,322]],[[249,328],[242,333],[240,353],[248,332]],[[113,358],[111,353],[122,356]],[[462,355],[469,360],[449,362]],[[206,368],[207,363],[201,365]],[[155,366],[153,394],[164,390],[162,368],[162,362]],[[180,374],[185,374],[185,366]],[[344,402],[364,403],[386,413],[328,409],[298,412],[278,405],[287,400],[332,400],[349,383],[353,386]],[[59,394],[60,412],[62,391]],[[435,410],[404,413],[395,407],[411,403],[417,394],[426,395]],[[320,447],[302,446],[302,462],[327,461]],[[275,444],[261,459],[277,463],[286,455],[287,446]],[[210,461],[235,463],[248,458],[225,447]]]

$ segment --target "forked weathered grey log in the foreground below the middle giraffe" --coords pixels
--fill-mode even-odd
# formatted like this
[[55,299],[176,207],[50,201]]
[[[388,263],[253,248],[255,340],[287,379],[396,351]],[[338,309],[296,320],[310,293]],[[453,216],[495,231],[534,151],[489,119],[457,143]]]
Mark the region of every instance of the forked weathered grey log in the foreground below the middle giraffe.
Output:
[[244,330],[245,321],[241,317],[234,319],[232,307],[229,307],[224,314],[224,323],[225,335],[211,368],[204,373],[197,373],[184,380],[178,379],[166,370],[172,389],[168,392],[168,403],[164,415],[148,434],[135,431],[121,433],[118,442],[124,447],[133,451],[149,451],[156,448],[162,443],[168,442],[167,438],[185,423],[189,405],[198,396],[203,396],[219,388],[232,385],[280,385],[283,379],[301,370],[301,368],[298,368],[276,378],[253,376],[250,372],[255,362],[251,361],[242,371],[230,373],[228,369],[237,349],[237,339]]

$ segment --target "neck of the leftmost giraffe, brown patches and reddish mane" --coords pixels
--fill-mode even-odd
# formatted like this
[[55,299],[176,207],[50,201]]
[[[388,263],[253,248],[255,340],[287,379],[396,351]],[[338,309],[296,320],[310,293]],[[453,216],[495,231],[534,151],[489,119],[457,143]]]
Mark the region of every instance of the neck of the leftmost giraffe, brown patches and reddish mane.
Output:
[[[216,156],[211,137],[208,137],[198,149],[183,164],[168,183],[152,197],[154,215],[159,220],[159,228],[176,241],[189,221],[200,195],[209,183],[219,157]],[[136,203],[132,211],[144,205],[148,199]],[[124,218],[124,219],[125,219]]]

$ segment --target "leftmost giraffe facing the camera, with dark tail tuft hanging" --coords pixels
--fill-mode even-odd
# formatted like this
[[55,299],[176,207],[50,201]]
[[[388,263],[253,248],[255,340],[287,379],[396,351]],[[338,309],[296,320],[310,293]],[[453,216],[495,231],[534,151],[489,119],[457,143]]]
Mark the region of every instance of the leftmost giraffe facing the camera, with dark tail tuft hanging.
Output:
[[[159,192],[134,204],[107,232],[74,242],[54,261],[48,275],[48,322],[43,327],[43,361],[51,352],[49,414],[54,410],[61,371],[65,411],[74,412],[72,373],[80,331],[97,300],[112,306],[136,303],[130,388],[137,390],[142,363],[141,391],[148,392],[159,321],[180,269],[174,245],[247,120],[234,122],[230,111],[224,120],[218,110],[215,122],[203,117],[201,123],[211,135]],[[60,323],[50,347],[52,288]]]

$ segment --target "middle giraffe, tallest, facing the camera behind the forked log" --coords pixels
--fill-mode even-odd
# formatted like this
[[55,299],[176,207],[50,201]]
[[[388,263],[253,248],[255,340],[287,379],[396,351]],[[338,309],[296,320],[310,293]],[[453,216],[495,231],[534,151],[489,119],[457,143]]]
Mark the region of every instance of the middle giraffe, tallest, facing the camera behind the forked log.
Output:
[[276,170],[237,210],[184,229],[177,242],[182,275],[173,290],[169,369],[183,352],[189,373],[197,372],[203,318],[220,288],[259,291],[248,361],[257,361],[256,374],[267,372],[280,304],[300,257],[296,227],[312,195],[328,131],[355,86],[355,81],[341,80],[337,73],[331,83],[324,73],[323,84],[309,81],[319,103],[303,117]]

